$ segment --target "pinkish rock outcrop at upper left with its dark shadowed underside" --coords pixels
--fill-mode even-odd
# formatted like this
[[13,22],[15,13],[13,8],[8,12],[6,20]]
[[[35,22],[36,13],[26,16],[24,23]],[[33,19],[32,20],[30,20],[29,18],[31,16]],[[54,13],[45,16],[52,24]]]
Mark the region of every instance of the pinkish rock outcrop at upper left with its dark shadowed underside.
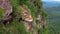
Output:
[[2,21],[11,21],[12,20],[12,5],[10,4],[9,0],[0,0],[0,8],[4,9],[3,17],[1,18]]

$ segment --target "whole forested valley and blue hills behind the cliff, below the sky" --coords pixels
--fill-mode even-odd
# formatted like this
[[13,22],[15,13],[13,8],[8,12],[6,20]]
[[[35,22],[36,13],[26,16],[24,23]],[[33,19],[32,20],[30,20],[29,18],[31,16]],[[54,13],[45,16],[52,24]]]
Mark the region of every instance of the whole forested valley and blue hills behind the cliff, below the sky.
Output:
[[49,15],[49,34],[60,34],[60,2],[43,2]]

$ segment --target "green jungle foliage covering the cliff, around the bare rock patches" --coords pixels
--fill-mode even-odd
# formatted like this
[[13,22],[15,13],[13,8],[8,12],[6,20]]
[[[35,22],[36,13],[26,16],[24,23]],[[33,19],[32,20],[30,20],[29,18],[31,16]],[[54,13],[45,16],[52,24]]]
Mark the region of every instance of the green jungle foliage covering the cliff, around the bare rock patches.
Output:
[[[5,0],[6,1],[6,0]],[[12,5],[12,21],[7,24],[8,20],[0,20],[0,34],[45,34],[46,33],[46,23],[48,22],[48,14],[42,6],[41,0],[9,0]],[[25,8],[33,18],[31,24],[34,24],[33,31],[27,32],[23,21],[19,21],[20,18],[24,17],[23,11],[19,6]],[[0,18],[3,18],[4,9],[0,8]],[[36,18],[40,15],[42,28],[37,28]],[[9,15],[10,16],[10,15]],[[7,16],[6,16],[7,17]],[[8,17],[7,17],[8,18]],[[21,19],[22,20],[22,19]],[[4,22],[4,23],[3,23]],[[6,24],[5,24],[6,23]]]

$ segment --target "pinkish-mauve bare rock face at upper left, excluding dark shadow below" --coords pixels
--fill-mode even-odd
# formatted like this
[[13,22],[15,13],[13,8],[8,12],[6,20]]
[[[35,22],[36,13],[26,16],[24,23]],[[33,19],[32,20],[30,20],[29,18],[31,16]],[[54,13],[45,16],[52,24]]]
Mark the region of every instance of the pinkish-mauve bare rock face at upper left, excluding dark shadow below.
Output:
[[0,7],[5,10],[3,17],[7,17],[12,13],[12,6],[10,5],[9,0],[0,0]]

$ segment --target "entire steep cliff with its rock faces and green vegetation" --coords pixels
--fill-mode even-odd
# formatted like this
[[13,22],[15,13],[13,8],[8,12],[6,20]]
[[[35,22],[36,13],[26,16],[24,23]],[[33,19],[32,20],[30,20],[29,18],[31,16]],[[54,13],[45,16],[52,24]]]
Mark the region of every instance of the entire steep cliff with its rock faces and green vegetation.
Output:
[[1,34],[40,34],[47,18],[41,0],[0,0]]

